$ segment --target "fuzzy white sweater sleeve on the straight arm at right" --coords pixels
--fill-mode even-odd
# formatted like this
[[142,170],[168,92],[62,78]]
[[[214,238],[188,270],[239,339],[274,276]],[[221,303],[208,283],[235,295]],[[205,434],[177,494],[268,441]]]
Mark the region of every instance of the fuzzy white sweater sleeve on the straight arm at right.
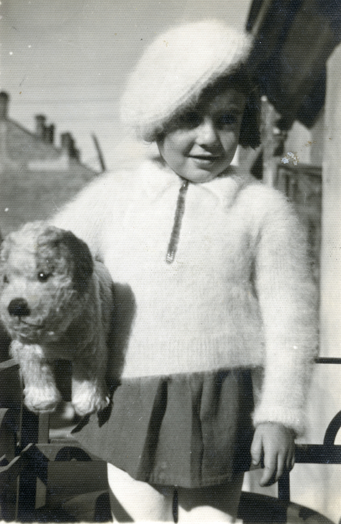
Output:
[[255,285],[264,325],[265,366],[253,421],[279,422],[301,434],[317,346],[316,290],[297,216],[281,194],[264,187],[262,193],[260,200],[265,198],[266,205],[257,210],[261,220]]

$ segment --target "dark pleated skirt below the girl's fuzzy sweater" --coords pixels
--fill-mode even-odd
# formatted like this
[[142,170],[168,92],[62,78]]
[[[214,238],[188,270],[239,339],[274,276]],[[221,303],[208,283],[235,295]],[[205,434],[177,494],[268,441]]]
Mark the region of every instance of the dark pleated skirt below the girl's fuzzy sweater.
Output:
[[248,470],[252,410],[245,370],[122,379],[111,412],[74,436],[137,480],[196,488]]

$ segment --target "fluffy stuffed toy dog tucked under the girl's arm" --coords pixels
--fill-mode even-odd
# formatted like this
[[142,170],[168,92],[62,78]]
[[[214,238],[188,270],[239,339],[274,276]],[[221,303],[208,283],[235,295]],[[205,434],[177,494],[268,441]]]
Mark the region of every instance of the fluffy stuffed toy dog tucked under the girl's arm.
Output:
[[72,404],[81,416],[109,404],[105,381],[112,281],[87,245],[42,222],[10,233],[0,250],[0,317],[24,379],[25,404],[51,412],[61,395],[53,361],[72,361]]

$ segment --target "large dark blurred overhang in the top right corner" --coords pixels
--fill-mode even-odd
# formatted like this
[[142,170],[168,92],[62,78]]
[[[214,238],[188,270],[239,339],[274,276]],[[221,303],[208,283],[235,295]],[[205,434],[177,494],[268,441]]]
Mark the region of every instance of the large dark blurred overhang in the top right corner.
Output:
[[255,44],[248,66],[280,113],[278,126],[297,119],[312,127],[325,99],[325,63],[341,41],[340,0],[254,0],[246,29]]

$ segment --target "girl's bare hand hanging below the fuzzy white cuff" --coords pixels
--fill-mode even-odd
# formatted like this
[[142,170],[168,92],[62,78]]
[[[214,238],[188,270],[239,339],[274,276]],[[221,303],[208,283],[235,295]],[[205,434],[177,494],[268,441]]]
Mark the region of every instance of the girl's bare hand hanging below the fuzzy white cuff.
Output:
[[260,486],[270,486],[295,462],[294,432],[277,422],[258,424],[251,445],[252,464],[257,466],[264,453],[263,476]]

